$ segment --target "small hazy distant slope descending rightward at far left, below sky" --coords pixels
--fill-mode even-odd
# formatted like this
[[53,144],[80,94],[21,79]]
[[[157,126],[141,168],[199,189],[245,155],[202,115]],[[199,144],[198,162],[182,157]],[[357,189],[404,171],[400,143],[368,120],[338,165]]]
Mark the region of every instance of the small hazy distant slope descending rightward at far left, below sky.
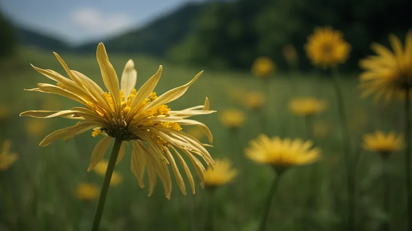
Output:
[[43,50],[56,52],[70,51],[71,47],[52,36],[44,35],[33,30],[16,26],[19,43],[25,46],[34,46]]

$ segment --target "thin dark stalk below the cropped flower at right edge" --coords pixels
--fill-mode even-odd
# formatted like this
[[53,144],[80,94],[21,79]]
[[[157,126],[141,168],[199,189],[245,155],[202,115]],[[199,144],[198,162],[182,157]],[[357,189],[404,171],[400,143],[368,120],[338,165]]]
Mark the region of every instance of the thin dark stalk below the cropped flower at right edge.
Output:
[[408,208],[408,231],[412,231],[412,188],[411,188],[411,89],[405,91],[405,186]]

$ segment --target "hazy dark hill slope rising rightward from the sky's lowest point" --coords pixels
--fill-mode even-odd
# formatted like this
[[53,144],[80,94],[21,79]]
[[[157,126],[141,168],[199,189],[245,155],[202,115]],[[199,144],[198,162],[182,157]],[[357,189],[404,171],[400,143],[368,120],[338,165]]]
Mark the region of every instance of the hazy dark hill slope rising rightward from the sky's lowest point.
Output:
[[[206,4],[208,3],[191,2],[185,4],[142,28],[103,42],[108,51],[112,52],[164,56],[169,48],[179,44],[192,32],[192,22],[197,19]],[[75,51],[95,52],[96,46],[97,42],[88,43],[76,47]]]

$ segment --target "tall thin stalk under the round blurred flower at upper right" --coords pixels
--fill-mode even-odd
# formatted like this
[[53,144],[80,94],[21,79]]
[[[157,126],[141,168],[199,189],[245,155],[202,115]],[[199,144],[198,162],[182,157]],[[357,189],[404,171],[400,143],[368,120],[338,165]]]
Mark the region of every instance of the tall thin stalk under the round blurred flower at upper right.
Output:
[[[355,230],[355,178],[352,169],[351,158],[351,141],[349,139],[348,123],[346,120],[346,111],[343,104],[343,95],[338,83],[338,71],[334,69],[332,76],[333,87],[336,94],[336,103],[338,106],[338,114],[342,131],[343,151],[346,168],[346,184],[348,194],[348,231]],[[355,166],[353,166],[355,167]]]

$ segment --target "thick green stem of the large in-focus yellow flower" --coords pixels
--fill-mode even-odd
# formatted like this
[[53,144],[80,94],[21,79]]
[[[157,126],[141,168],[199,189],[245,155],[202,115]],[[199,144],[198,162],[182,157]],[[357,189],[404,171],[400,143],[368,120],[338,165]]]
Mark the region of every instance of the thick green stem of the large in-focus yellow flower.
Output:
[[97,202],[96,211],[93,218],[93,226],[91,231],[98,231],[100,221],[102,220],[103,209],[105,208],[106,197],[109,190],[111,175],[113,174],[114,165],[116,165],[117,155],[119,154],[122,139],[116,138],[114,140],[113,149],[111,150],[110,160],[107,166],[105,179],[103,180],[102,189],[100,190],[99,202]]

